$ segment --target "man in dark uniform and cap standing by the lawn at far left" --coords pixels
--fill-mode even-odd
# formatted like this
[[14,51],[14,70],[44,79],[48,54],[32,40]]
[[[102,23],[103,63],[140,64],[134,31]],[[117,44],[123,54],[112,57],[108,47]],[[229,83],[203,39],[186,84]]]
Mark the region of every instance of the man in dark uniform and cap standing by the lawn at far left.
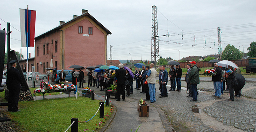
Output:
[[11,67],[7,70],[7,79],[6,85],[9,90],[8,103],[11,103],[11,106],[8,106],[8,111],[17,112],[18,111],[18,102],[19,102],[19,92],[20,92],[20,83],[22,82],[19,70],[16,69],[17,63],[16,60],[10,61]]

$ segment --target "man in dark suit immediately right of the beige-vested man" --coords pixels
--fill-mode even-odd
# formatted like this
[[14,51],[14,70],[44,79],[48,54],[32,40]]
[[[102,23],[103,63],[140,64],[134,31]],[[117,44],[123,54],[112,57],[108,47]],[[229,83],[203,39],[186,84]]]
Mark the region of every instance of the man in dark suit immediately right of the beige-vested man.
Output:
[[159,96],[159,98],[168,96],[167,89],[166,89],[166,84],[168,82],[168,72],[166,71],[164,65],[162,66],[162,71],[163,71],[161,75],[162,93],[161,93],[161,96]]

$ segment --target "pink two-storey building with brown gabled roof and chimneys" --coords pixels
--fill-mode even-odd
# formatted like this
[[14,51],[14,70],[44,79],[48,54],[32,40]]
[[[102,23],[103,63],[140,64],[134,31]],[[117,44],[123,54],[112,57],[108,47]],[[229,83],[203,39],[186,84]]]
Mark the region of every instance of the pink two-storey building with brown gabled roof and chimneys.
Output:
[[74,64],[85,68],[106,65],[110,34],[87,10],[82,10],[82,15],[74,15],[68,22],[60,21],[59,26],[35,37],[35,71],[45,73],[45,68],[55,65],[58,69]]

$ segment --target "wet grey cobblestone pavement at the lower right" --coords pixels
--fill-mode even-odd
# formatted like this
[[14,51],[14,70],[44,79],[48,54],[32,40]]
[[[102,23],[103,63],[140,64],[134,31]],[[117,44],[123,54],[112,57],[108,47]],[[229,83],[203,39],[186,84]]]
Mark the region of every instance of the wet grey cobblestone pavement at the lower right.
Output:
[[[134,82],[135,83],[135,82]],[[133,83],[133,87],[135,84]],[[170,89],[170,82],[168,82],[167,90]],[[198,89],[207,89],[207,92],[199,92],[198,101],[190,102],[191,98],[186,97],[186,83],[181,81],[181,92],[168,91],[168,97],[159,98],[158,91],[159,84],[156,84],[156,102],[154,106],[159,107],[166,114],[167,118],[172,118],[174,122],[180,122],[184,124],[191,132],[222,132],[227,127],[226,131],[230,131],[228,127],[234,129],[234,131],[248,131],[256,132],[256,83],[246,82],[242,89],[242,95],[246,95],[252,98],[240,97],[235,98],[235,101],[227,101],[229,93],[224,93],[222,99],[215,100],[213,95],[213,83],[212,82],[200,82],[197,86]],[[248,89],[247,89],[248,88]],[[131,98],[145,99],[146,95],[139,93],[141,90],[133,90]],[[209,92],[210,91],[210,92]],[[243,91],[245,91],[243,93]],[[214,103],[210,103],[214,101]],[[209,102],[209,103],[208,103]],[[202,105],[203,103],[208,105]],[[200,105],[202,113],[193,113],[192,106]],[[198,116],[200,114],[200,116]],[[217,124],[221,124],[223,129],[213,123],[205,123],[204,118],[210,118]],[[172,126],[172,121],[170,125]],[[175,130],[178,131],[178,130]],[[231,130],[230,132],[232,132]]]

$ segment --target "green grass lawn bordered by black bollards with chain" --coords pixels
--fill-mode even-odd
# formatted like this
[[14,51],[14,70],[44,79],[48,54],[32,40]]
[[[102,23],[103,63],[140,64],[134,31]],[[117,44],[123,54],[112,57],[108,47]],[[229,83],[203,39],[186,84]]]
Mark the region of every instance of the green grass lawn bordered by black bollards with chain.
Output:
[[[87,121],[93,117],[99,108],[99,102],[85,97],[22,101],[19,102],[20,112],[5,114],[19,124],[20,130],[24,132],[64,132],[71,124],[71,118]],[[104,118],[99,118],[98,112],[90,121],[79,122],[79,132],[85,129],[89,132],[97,131],[105,124],[105,120],[108,120],[112,111],[111,105],[104,105]],[[71,129],[68,132],[70,131]]]

